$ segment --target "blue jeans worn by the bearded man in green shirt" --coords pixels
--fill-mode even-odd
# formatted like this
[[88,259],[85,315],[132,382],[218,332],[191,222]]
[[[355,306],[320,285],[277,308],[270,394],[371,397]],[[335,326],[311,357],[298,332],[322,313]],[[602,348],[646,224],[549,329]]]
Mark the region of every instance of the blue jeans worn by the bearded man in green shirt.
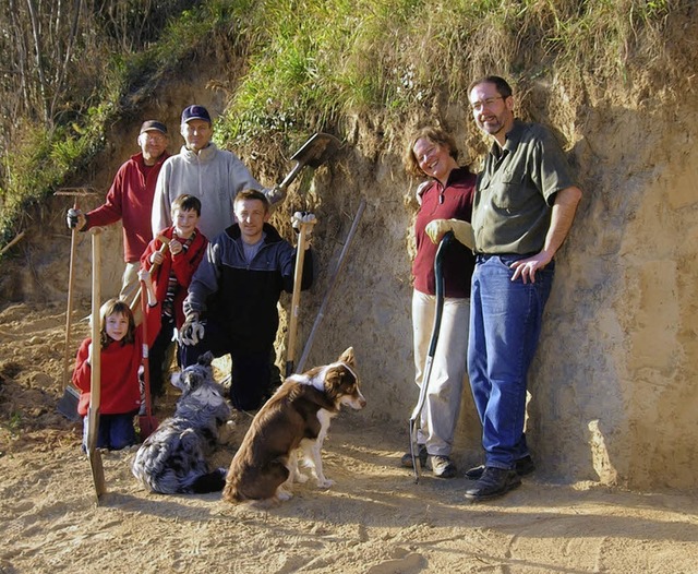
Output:
[[541,333],[555,264],[535,283],[512,282],[509,265],[526,255],[478,255],[470,297],[468,375],[480,421],[485,465],[514,468],[529,454],[524,434],[526,385]]

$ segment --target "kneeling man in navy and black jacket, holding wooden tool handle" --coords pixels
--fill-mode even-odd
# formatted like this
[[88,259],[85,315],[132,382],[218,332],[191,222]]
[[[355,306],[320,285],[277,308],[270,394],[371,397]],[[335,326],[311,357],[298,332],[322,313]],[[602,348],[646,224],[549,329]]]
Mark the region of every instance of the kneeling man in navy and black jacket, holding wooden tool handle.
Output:
[[[269,356],[279,326],[277,303],[281,290],[293,290],[296,249],[267,223],[269,202],[263,192],[240,192],[234,215],[238,223],[212,239],[189,286],[182,362],[193,364],[207,350],[216,357],[230,354],[232,405],[254,410],[268,390]],[[312,280],[313,258],[308,251],[301,288]]]

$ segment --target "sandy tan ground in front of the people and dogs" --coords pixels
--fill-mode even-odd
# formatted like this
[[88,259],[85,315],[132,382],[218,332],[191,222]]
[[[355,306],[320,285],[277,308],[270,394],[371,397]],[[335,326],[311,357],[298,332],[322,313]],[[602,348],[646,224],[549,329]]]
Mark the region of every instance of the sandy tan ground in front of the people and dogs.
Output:
[[[465,478],[397,466],[406,424],[342,412],[325,443],[329,490],[297,486],[268,511],[218,495],[145,492],[134,451],[104,453],[96,503],[80,427],[56,412],[63,309],[0,309],[0,573],[698,572],[698,500],[534,474],[507,497],[467,502]],[[86,325],[75,332],[75,346]],[[366,397],[369,400],[371,397]],[[171,411],[176,390],[159,406]],[[236,417],[227,465],[248,418]],[[400,428],[398,428],[400,427]]]

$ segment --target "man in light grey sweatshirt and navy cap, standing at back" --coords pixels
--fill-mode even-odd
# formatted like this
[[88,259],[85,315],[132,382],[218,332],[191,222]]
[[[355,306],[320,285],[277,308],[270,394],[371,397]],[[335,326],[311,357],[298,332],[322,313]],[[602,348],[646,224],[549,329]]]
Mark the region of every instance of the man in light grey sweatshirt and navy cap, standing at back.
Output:
[[172,201],[183,193],[201,201],[198,228],[209,238],[234,223],[233,201],[240,191],[263,191],[272,204],[284,199],[280,190],[267,190],[254,179],[238,156],[210,141],[213,125],[203,106],[182,111],[180,133],[184,145],[165,162],[157,179],[151,220],[154,236],[172,225]]

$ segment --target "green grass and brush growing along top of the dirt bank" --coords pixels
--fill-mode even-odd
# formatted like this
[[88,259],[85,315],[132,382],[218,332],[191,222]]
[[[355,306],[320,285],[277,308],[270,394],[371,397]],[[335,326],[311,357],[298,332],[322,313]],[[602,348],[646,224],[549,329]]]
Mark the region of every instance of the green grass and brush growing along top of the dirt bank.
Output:
[[[43,115],[32,113],[32,101],[44,101],[50,92],[45,83],[44,96],[39,86],[32,92],[32,101],[17,107],[22,113],[3,112],[0,246],[22,230],[27,205],[52,193],[95,157],[104,144],[105,125],[129,112],[183,61],[217,53],[238,58],[244,72],[230,94],[217,139],[233,146],[266,141],[273,147],[297,143],[313,130],[340,132],[356,116],[399,127],[406,113],[425,113],[437,99],[464,100],[470,80],[486,72],[505,74],[522,85],[540,76],[564,79],[567,89],[580,88],[580,98],[589,97],[582,96],[589,94],[589,85],[597,91],[610,82],[628,85],[648,70],[661,73],[662,58],[667,58],[662,32],[672,15],[681,19],[689,4],[689,0],[86,2],[79,20],[84,35],[76,34],[72,44],[71,86],[57,87],[64,97],[53,92],[56,106]],[[148,27],[136,33],[133,23],[146,16],[152,19],[146,20]],[[3,31],[13,24],[16,19],[0,13]],[[88,45],[84,38],[93,37],[87,32],[93,28],[93,40],[99,41]],[[105,47],[97,49],[100,41]],[[49,53],[51,46],[45,48],[46,59],[60,63]],[[89,65],[84,65],[81,60],[87,53]],[[33,79],[36,74],[27,69],[25,81]],[[19,88],[5,82],[0,89],[8,95]]]

